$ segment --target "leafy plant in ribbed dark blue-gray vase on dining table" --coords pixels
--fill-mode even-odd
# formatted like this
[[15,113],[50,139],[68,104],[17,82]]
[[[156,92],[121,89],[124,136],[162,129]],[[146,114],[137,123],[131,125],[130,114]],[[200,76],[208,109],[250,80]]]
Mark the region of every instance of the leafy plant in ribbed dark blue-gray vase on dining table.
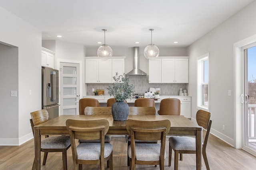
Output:
[[118,75],[113,77],[114,83],[109,86],[108,94],[113,96],[116,102],[112,105],[112,115],[115,121],[124,121],[128,117],[129,106],[124,100],[131,97],[134,92],[133,84],[130,84],[130,80],[127,74]]

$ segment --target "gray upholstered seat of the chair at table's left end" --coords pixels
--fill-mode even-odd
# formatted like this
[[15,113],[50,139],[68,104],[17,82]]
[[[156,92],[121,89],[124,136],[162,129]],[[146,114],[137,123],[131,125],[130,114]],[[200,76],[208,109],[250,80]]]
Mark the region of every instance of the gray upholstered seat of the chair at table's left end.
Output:
[[70,145],[69,135],[51,136],[41,141],[42,149],[65,149]]

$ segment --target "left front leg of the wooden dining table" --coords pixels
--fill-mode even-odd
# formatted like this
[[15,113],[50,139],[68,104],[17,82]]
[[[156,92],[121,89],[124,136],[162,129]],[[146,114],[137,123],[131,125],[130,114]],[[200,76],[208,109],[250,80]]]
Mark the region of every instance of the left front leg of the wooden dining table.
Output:
[[34,129],[34,147],[35,147],[35,165],[36,170],[40,170],[40,160],[41,160],[41,135],[40,129]]

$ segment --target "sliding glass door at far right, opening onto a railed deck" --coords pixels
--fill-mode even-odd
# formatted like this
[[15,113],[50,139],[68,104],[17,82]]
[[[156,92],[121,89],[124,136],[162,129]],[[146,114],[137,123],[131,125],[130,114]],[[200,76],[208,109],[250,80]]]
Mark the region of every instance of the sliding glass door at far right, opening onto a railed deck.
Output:
[[256,44],[244,49],[244,145],[256,154]]

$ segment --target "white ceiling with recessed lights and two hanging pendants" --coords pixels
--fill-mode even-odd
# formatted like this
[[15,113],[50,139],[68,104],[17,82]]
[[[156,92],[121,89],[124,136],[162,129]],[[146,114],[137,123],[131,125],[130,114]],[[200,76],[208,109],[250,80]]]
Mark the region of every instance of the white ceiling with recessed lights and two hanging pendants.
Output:
[[[0,0],[42,30],[43,40],[86,47],[187,47],[253,0]],[[56,35],[62,35],[61,38]],[[140,44],[135,44],[139,41]],[[178,41],[178,44],[174,44]]]

